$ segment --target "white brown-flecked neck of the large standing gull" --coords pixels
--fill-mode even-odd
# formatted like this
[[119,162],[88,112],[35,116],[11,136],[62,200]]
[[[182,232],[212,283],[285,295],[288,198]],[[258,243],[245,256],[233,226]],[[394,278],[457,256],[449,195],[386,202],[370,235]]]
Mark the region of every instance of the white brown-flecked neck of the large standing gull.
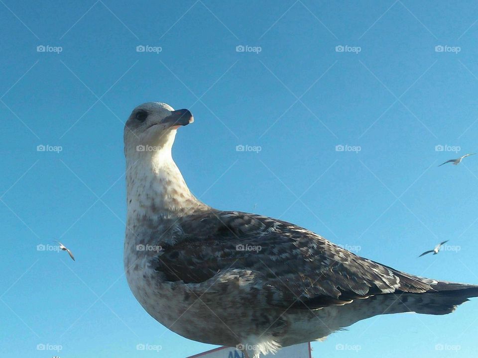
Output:
[[174,163],[171,137],[162,148],[130,148],[126,153],[128,220],[157,222],[208,208],[191,193]]

